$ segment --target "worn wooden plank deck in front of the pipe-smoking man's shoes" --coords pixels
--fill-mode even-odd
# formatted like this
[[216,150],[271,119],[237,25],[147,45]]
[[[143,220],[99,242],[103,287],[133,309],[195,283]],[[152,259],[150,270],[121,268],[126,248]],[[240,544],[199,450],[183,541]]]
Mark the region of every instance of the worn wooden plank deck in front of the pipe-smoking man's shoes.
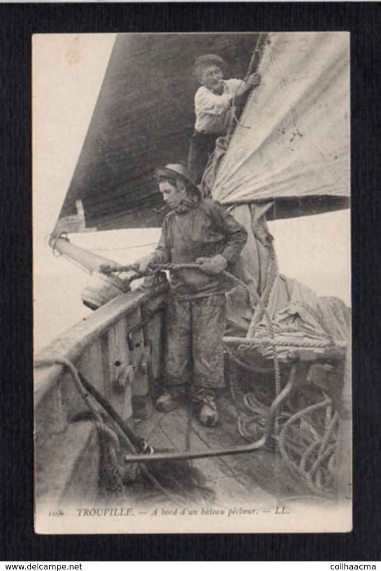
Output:
[[[171,451],[213,450],[247,444],[237,428],[237,411],[229,393],[218,400],[220,421],[213,428],[200,425],[191,407],[168,413],[153,412],[148,420],[135,421],[135,430],[155,449]],[[240,414],[242,411],[240,411]],[[246,413],[247,415],[248,413]],[[254,505],[266,508],[282,498],[309,494],[282,463],[278,453],[260,449],[251,453],[192,461],[214,492],[213,505]],[[168,470],[170,468],[168,467]],[[126,493],[132,490],[126,488]]]

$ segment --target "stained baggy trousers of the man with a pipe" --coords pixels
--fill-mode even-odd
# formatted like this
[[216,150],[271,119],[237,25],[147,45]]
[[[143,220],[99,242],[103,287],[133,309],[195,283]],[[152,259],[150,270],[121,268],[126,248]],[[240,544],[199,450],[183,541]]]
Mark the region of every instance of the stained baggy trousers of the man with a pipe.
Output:
[[223,293],[169,300],[165,385],[190,384],[196,392],[224,387],[225,317]]

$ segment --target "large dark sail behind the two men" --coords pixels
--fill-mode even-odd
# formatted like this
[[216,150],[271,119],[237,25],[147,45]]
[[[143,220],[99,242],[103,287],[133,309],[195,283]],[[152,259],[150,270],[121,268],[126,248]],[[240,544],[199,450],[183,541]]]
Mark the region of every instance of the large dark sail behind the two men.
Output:
[[194,59],[221,55],[243,78],[258,34],[128,34],[116,38],[55,233],[160,226],[153,169],[187,162],[198,87]]

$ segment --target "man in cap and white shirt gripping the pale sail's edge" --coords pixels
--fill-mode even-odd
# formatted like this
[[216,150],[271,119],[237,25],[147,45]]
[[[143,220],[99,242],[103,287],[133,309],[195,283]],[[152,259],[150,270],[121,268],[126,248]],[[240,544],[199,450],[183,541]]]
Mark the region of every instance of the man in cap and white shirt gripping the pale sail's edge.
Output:
[[188,156],[188,172],[198,184],[209,155],[219,136],[225,136],[233,122],[234,106],[242,103],[261,77],[254,73],[246,79],[226,79],[222,72],[224,61],[219,55],[201,55],[194,62],[201,87],[194,97],[196,123]]

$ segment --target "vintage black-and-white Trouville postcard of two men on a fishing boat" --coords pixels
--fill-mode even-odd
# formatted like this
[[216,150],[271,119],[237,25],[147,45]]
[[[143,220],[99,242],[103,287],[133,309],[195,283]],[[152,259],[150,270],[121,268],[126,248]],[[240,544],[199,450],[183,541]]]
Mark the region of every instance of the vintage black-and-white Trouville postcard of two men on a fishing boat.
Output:
[[349,42],[34,35],[37,533],[351,530]]

